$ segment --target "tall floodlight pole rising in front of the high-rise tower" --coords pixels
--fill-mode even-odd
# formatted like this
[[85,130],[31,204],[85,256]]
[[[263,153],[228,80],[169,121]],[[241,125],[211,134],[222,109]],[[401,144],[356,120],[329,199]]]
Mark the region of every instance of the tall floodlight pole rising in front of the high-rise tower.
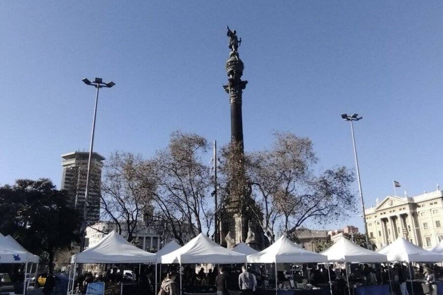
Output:
[[[91,82],[87,78],[82,80],[86,85],[94,86],[97,89],[97,92],[95,94],[95,108],[94,108],[94,118],[93,118],[93,127],[91,132],[91,146],[89,148],[89,158],[88,158],[88,171],[86,173],[86,187],[85,187],[85,204],[83,206],[83,223],[81,227],[81,243],[80,243],[80,252],[82,252],[85,249],[85,236],[86,236],[86,227],[87,224],[87,217],[88,217],[88,194],[89,194],[89,181],[90,181],[90,174],[91,174],[91,160],[92,160],[92,153],[94,148],[94,133],[95,133],[95,117],[97,115],[97,103],[98,103],[98,90],[100,88],[111,88],[115,85],[114,82],[108,82],[103,83],[101,78],[95,78],[94,82]],[[79,271],[81,271],[79,266]]]

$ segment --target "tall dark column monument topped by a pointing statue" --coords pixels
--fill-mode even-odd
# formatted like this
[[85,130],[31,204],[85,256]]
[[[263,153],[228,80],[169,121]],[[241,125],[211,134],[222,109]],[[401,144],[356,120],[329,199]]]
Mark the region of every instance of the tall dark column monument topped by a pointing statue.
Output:
[[[237,37],[236,30],[231,30],[227,26],[227,36],[229,37],[229,58],[226,61],[225,69],[228,83],[223,86],[229,94],[229,104],[231,109],[231,146],[237,146],[239,162],[243,162],[243,118],[242,118],[242,93],[248,81],[242,80],[244,64],[240,59],[238,48],[242,42]],[[241,184],[233,183],[244,178],[242,163],[236,166],[230,174],[231,187]],[[240,168],[238,168],[240,167]],[[234,192],[233,192],[234,191]],[[255,249],[262,248],[261,228],[257,226],[256,218],[253,217],[250,207],[255,203],[250,194],[243,193],[242,190],[230,189],[229,196],[225,201],[225,209],[221,214],[220,243],[228,248],[232,248],[240,242],[245,242]]]

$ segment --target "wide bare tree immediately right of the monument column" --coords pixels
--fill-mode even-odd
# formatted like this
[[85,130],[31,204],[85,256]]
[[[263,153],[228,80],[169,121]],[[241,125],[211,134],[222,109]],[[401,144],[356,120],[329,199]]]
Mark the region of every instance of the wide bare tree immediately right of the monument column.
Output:
[[257,219],[269,241],[278,226],[291,234],[306,221],[325,224],[347,217],[355,208],[353,173],[346,167],[315,173],[311,140],[291,133],[275,133],[275,138],[271,150],[249,155],[248,167],[261,209]]

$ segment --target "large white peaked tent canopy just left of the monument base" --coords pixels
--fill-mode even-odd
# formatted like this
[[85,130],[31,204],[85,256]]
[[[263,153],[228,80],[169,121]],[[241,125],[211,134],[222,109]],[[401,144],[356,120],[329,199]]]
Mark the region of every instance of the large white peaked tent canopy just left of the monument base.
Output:
[[212,241],[209,237],[199,234],[183,247],[161,256],[162,264],[171,263],[244,263],[246,255],[228,250]]

